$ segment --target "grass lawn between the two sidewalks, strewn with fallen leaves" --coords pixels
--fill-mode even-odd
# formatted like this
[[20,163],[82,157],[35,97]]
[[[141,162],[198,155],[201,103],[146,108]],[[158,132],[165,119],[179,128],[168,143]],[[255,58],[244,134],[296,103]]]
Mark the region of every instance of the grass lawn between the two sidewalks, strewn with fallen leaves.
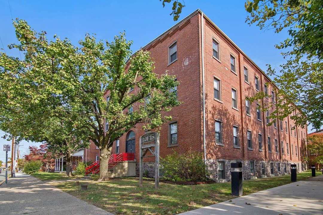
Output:
[[[322,172],[316,172],[321,175]],[[297,173],[297,181],[311,178],[311,172]],[[290,183],[290,175],[243,181],[243,194]],[[109,182],[80,181],[87,184],[80,191],[76,182],[57,182],[52,185],[114,214],[177,214],[233,199],[231,182],[203,185],[174,185],[160,183],[158,190],[154,181],[143,181],[139,187],[137,178],[113,179]]]

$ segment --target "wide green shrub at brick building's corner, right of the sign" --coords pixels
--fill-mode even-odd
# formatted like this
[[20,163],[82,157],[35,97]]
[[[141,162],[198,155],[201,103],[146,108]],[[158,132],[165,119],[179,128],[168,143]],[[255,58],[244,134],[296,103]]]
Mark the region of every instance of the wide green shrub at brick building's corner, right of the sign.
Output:
[[203,154],[195,151],[187,151],[179,155],[176,151],[161,158],[161,170],[164,179],[171,181],[210,181],[207,178],[209,172],[203,161]]

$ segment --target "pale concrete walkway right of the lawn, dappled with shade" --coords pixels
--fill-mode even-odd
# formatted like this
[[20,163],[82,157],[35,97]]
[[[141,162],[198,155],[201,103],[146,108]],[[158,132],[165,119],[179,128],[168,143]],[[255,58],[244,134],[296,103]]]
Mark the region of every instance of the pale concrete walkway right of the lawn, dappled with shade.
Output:
[[181,213],[224,214],[323,215],[323,175]]

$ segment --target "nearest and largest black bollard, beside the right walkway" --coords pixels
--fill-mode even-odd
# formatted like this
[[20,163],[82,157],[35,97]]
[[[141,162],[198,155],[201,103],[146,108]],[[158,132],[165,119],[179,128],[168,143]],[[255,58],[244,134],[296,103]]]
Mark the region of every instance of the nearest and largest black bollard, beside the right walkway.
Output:
[[231,195],[242,196],[242,163],[231,163]]

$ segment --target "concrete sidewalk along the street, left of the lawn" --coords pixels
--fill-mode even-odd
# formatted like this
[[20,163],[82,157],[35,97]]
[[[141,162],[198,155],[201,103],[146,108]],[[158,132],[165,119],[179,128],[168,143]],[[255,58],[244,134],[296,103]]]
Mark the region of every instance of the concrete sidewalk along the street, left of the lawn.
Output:
[[24,173],[0,186],[0,215],[112,215]]

